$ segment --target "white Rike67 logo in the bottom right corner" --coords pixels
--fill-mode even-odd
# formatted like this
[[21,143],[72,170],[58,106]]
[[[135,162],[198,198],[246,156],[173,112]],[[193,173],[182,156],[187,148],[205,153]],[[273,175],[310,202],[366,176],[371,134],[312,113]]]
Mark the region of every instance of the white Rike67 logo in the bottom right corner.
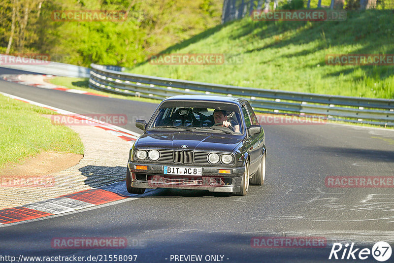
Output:
[[354,248],[354,243],[349,247],[349,243],[342,245],[341,243],[334,243],[331,248],[331,252],[329,253],[328,259],[335,260],[366,260],[372,257],[380,262],[387,261],[390,259],[392,254],[392,248],[389,243],[384,241],[379,241],[375,243],[372,247],[372,250],[369,248]]

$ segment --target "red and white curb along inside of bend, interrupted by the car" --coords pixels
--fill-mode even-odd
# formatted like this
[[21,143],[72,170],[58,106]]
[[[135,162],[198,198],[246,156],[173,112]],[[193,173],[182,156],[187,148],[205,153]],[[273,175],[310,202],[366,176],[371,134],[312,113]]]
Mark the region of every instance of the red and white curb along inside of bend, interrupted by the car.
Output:
[[[97,123],[93,125],[95,127],[104,129],[111,134],[120,137],[123,140],[128,141],[131,145],[133,141],[140,135],[136,132],[110,125],[105,122],[101,122],[80,114],[72,113],[66,110],[55,108],[49,105],[38,103],[29,99],[23,99],[14,95],[0,92],[0,94],[9,97],[11,99],[17,99],[33,105],[44,107],[56,111],[57,113],[68,115],[74,118],[85,119],[90,122]],[[20,205],[13,208],[5,208],[0,210],[0,225],[22,222],[26,220],[37,219],[41,217],[62,214],[71,212],[99,204],[105,204],[112,201],[117,201],[137,195],[129,194],[126,190],[126,181],[112,183],[106,186],[101,186],[91,190],[84,190],[73,194],[56,197],[53,199],[39,201],[35,203],[29,203]]]

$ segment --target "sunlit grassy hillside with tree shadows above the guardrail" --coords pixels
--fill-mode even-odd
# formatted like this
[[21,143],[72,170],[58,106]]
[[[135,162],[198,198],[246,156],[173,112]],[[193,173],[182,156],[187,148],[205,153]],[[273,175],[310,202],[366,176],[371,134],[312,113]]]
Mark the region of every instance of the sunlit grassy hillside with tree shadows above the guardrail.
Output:
[[129,72],[210,83],[332,95],[394,98],[394,66],[328,66],[328,54],[394,54],[392,11],[348,12],[344,22],[217,26],[163,53],[224,53],[224,65],[138,64]]

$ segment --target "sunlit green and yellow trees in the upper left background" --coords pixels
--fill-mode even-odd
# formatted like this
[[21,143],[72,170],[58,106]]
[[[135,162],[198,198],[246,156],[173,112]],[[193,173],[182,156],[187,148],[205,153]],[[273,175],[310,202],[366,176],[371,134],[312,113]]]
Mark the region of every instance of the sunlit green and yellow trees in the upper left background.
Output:
[[[0,0],[0,54],[133,66],[221,22],[222,0]],[[55,21],[57,10],[125,11],[125,21]]]

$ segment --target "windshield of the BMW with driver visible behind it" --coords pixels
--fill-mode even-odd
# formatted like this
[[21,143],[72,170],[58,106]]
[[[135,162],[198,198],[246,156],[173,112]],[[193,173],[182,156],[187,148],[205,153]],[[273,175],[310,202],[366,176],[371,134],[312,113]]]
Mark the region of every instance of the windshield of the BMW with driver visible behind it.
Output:
[[182,129],[243,133],[239,107],[231,103],[168,101],[154,114],[148,130]]

